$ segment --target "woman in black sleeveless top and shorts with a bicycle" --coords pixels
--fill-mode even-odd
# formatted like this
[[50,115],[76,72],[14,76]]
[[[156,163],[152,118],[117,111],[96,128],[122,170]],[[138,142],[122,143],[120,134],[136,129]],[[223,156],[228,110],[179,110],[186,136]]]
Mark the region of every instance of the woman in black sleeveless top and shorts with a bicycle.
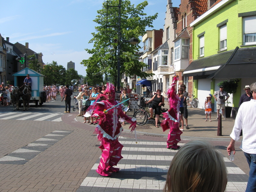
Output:
[[156,127],[158,127],[158,120],[159,120],[159,115],[161,113],[161,105],[164,104],[164,97],[161,95],[161,90],[157,90],[157,94],[152,97],[148,102],[145,102],[148,104],[149,102],[152,102],[150,107],[149,107],[149,112],[150,112],[150,117],[148,119],[151,119],[153,117],[153,110],[155,110],[155,121],[156,121]]

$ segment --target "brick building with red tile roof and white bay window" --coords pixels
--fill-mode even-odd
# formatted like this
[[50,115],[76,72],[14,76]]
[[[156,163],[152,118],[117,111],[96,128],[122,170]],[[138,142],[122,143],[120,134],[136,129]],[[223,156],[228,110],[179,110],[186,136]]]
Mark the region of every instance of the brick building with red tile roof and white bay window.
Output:
[[[177,14],[177,29],[174,41],[174,67],[179,76],[178,84],[185,84],[186,91],[193,94],[193,77],[184,76],[186,67],[193,61],[193,28],[194,20],[207,11],[215,0],[181,0]],[[209,4],[209,5],[208,5]]]

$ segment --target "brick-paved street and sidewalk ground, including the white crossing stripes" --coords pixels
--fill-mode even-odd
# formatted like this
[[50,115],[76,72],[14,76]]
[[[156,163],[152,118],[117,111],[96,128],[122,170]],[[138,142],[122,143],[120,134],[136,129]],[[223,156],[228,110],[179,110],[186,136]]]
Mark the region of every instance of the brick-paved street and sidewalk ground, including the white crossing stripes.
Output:
[[[233,162],[226,152],[234,119],[222,122],[224,136],[215,136],[218,122],[205,122],[203,112],[189,108],[190,129],[183,132],[180,145],[189,140],[209,140],[223,154],[228,171],[227,191],[244,191],[249,168],[239,150],[240,142],[236,142],[238,150]],[[83,124],[83,118],[76,117],[78,111],[60,114],[61,121],[54,121],[60,118],[58,115],[44,120],[34,117],[22,120],[24,116],[16,113],[9,114],[12,116],[9,119],[3,119],[7,116],[0,113],[1,192],[153,192],[163,188],[166,171],[176,151],[166,149],[168,132],[161,128],[147,124],[149,128],[137,129],[136,144],[134,133],[131,134],[129,125],[125,125],[120,137],[120,143],[124,145],[124,158],[118,164],[121,170],[111,177],[101,177],[95,172],[101,155],[93,133],[95,125]],[[39,118],[44,116],[47,114],[38,115]]]

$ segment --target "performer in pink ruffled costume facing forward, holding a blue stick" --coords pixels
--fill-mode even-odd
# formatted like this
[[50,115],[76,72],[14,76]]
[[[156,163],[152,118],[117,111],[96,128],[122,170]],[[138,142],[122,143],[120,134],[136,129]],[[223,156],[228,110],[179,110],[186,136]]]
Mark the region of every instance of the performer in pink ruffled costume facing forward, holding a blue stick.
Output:
[[[102,176],[110,176],[111,173],[119,171],[119,168],[113,167],[123,158],[121,155],[123,145],[118,141],[118,137],[123,131],[123,128],[119,121],[125,120],[131,123],[131,131],[134,131],[136,128],[136,119],[131,119],[125,115],[121,105],[110,109],[119,103],[115,101],[115,94],[113,84],[107,83],[105,93],[99,94],[98,96],[105,96],[107,100],[96,102],[92,113],[92,116],[99,117],[99,125],[96,127],[95,132],[98,134],[97,138],[101,142],[99,148],[102,150],[102,157],[96,172]],[[110,110],[106,112],[108,109]],[[119,120],[118,116],[120,116],[122,120]]]

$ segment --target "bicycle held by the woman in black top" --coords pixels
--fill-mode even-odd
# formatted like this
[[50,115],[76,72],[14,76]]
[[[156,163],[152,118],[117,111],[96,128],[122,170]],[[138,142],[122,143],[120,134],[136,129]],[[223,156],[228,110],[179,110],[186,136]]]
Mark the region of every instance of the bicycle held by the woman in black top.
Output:
[[[150,112],[149,112],[149,104],[140,105],[139,110],[135,111],[133,114],[133,117],[136,118],[137,125],[145,125],[148,122],[148,117],[150,117]],[[159,122],[160,120],[163,120],[163,113],[168,111],[166,108],[161,108],[161,113],[159,115]],[[153,118],[155,119],[155,115],[153,115]]]

